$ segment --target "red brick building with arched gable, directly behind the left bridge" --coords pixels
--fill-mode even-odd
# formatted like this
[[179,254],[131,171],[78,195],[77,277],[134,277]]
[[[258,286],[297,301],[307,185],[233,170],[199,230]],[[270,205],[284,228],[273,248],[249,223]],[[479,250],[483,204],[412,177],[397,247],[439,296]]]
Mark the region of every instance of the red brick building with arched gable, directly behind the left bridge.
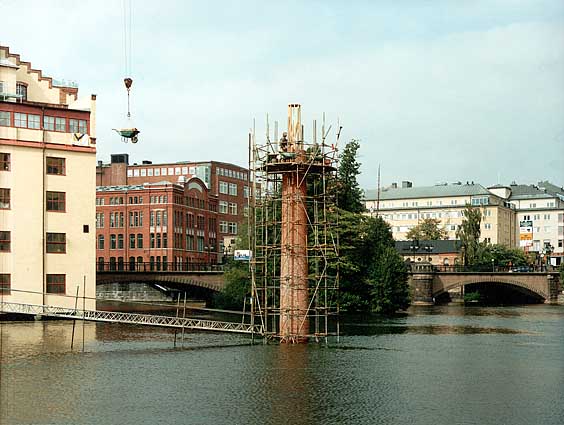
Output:
[[218,200],[200,179],[98,186],[98,269],[190,270],[217,264]]

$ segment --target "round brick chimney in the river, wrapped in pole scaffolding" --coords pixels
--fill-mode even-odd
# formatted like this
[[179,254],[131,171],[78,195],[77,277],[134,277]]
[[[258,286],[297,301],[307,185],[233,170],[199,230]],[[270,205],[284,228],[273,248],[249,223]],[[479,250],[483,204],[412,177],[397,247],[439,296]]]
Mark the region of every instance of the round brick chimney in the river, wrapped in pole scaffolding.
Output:
[[297,104],[280,138],[268,117],[266,128],[263,142],[254,130],[249,141],[252,320],[267,339],[327,343],[339,334],[336,142],[316,121],[306,140]]

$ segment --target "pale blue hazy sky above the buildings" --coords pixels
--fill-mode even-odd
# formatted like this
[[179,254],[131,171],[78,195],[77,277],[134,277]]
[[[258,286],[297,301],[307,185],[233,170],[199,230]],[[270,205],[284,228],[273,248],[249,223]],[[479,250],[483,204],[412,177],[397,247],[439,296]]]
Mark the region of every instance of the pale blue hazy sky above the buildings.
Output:
[[360,141],[364,189],[378,165],[382,186],[564,186],[561,0],[125,1],[131,122],[124,0],[0,0],[0,45],[97,94],[99,160],[247,166],[253,122],[300,103],[306,135],[325,113]]

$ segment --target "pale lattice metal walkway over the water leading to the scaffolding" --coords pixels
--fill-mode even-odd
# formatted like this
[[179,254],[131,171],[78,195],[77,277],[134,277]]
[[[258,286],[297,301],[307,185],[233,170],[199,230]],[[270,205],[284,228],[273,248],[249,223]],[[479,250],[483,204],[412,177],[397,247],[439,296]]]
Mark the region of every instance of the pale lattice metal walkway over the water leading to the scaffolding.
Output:
[[201,331],[232,332],[262,335],[262,327],[235,322],[220,322],[182,317],[157,316],[152,314],[121,313],[101,310],[80,310],[48,305],[0,302],[0,312],[33,314],[65,319],[79,319],[93,322],[127,323],[132,325],[161,326],[166,328],[193,329]]

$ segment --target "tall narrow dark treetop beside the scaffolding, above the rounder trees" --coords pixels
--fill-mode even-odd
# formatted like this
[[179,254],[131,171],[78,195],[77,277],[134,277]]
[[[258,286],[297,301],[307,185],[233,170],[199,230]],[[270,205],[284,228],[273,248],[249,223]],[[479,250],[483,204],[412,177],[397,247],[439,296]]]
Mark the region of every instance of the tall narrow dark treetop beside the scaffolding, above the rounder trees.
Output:
[[337,172],[337,205],[353,213],[364,212],[363,193],[356,179],[360,174],[360,163],[356,159],[359,148],[358,140],[346,144],[339,156]]

